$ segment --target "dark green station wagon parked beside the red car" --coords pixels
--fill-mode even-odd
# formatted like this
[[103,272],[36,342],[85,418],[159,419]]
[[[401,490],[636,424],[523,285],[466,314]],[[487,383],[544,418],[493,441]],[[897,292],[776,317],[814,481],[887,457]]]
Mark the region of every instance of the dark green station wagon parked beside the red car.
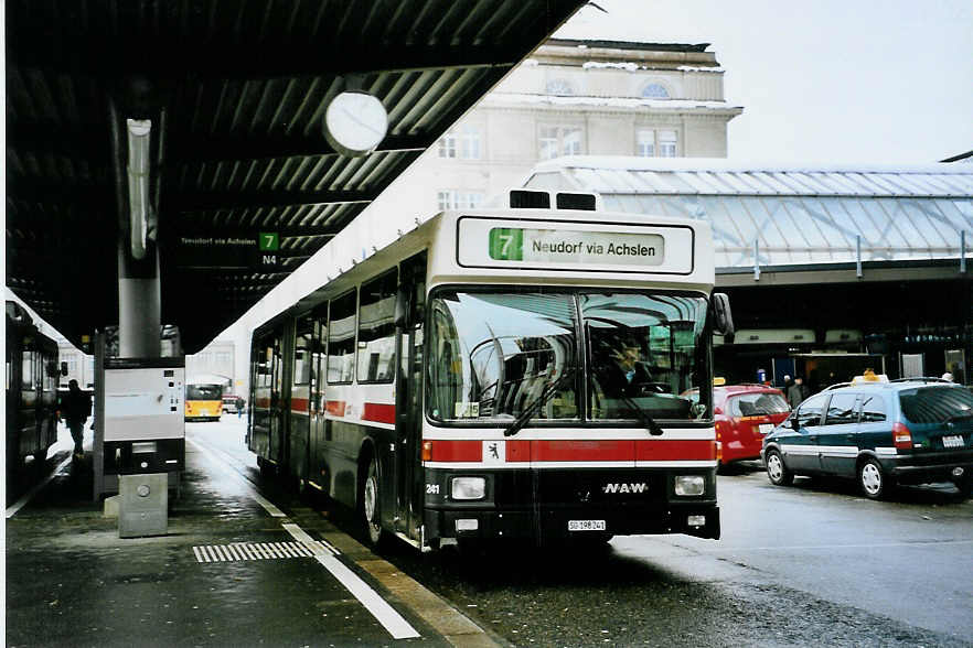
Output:
[[763,439],[767,475],[855,478],[880,499],[896,484],[953,482],[973,487],[973,393],[951,382],[851,385],[802,402]]

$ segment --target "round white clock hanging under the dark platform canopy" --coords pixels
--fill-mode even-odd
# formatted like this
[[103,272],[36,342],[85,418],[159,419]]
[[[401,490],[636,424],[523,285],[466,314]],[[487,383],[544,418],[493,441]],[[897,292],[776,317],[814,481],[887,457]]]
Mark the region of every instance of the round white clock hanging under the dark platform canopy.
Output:
[[324,112],[324,137],[343,155],[356,158],[371,153],[387,131],[385,107],[365,93],[341,93]]

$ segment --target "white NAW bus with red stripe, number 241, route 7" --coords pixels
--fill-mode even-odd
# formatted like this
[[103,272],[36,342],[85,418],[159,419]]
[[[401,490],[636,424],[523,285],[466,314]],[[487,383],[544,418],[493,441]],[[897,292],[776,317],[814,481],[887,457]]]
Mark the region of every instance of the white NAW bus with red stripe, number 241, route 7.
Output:
[[254,333],[261,469],[375,544],[718,538],[709,225],[511,198],[534,207],[439,214]]

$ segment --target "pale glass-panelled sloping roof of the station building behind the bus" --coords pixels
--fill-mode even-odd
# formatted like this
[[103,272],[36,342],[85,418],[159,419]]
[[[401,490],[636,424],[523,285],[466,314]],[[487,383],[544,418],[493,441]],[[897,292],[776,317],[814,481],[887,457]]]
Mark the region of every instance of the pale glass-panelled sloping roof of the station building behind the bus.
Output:
[[[717,270],[958,259],[973,165],[796,168],[716,159],[568,156],[525,186],[601,194],[606,209],[708,220]],[[966,250],[973,247],[966,238]]]

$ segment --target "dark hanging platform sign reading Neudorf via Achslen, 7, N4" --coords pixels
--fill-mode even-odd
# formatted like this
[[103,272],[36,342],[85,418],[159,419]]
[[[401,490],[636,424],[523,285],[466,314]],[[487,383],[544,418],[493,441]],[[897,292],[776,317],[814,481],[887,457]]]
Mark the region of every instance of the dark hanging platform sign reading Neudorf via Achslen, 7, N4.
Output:
[[177,266],[186,269],[272,271],[280,263],[280,237],[276,231],[242,236],[180,236],[175,249]]

